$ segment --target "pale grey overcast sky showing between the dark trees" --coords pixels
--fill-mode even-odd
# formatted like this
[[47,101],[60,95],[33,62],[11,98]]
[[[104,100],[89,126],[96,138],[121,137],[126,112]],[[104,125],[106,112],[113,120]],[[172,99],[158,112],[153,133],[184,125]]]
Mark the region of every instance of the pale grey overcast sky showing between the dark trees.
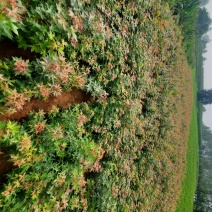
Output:
[[[206,5],[206,8],[212,18],[212,0]],[[212,30],[207,33],[211,42],[207,44],[207,52],[204,54],[204,89],[212,88]],[[212,129],[212,104],[205,105],[206,112],[203,113],[203,123]]]

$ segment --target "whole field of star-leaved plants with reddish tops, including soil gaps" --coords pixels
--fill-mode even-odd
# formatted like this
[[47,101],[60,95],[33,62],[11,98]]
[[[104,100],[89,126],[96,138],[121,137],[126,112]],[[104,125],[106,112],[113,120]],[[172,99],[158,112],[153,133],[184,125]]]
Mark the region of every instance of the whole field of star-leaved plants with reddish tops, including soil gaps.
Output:
[[169,4],[0,10],[0,210],[175,211],[193,82]]

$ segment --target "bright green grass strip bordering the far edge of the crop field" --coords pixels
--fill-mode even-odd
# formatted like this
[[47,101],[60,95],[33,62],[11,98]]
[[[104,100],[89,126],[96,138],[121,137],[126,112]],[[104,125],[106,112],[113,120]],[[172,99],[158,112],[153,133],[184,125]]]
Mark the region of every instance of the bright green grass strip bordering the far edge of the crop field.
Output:
[[190,124],[188,151],[186,156],[186,175],[182,183],[182,192],[178,202],[177,212],[192,212],[194,208],[194,194],[197,186],[198,173],[198,122],[196,93],[197,86],[195,83],[195,71],[193,71],[194,79],[194,104],[192,110],[192,120]]

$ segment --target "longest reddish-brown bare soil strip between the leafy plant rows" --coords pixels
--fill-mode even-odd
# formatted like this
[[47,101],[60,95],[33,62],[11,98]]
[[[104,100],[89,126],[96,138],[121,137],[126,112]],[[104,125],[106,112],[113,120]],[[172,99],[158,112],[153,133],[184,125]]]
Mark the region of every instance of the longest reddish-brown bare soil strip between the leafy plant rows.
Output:
[[18,110],[13,114],[0,115],[0,121],[14,120],[19,121],[22,118],[26,118],[31,110],[38,112],[43,110],[49,112],[53,106],[59,108],[68,108],[71,104],[77,104],[82,102],[93,102],[93,97],[77,88],[73,88],[71,91],[63,92],[60,96],[51,96],[47,100],[32,99],[27,102],[22,110]]

